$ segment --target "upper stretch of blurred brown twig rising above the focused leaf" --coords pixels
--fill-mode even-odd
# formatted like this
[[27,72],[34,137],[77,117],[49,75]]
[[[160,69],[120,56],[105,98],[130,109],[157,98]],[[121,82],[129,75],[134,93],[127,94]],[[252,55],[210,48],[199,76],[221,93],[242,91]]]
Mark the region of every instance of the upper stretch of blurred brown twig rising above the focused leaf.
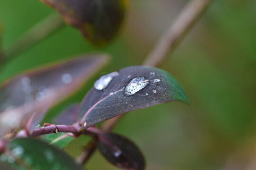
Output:
[[144,65],[159,66],[164,60],[168,51],[174,51],[175,47],[188,33],[193,24],[201,16],[202,12],[210,4],[211,0],[192,0],[181,11],[174,23],[163,34],[155,49],[150,52]]

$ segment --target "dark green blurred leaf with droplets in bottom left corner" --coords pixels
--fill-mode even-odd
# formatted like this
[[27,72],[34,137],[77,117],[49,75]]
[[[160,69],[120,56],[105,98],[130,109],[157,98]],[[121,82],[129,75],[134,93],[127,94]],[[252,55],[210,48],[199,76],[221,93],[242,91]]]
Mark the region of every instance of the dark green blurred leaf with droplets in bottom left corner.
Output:
[[2,159],[18,170],[82,170],[73,158],[43,141],[19,138],[8,143]]

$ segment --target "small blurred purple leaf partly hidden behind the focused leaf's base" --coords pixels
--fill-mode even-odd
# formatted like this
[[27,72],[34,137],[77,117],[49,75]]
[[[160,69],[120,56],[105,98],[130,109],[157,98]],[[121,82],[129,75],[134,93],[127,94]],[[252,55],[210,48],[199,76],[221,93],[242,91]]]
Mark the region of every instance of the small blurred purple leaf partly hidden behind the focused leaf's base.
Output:
[[78,121],[80,104],[72,104],[54,119],[55,124],[72,125]]

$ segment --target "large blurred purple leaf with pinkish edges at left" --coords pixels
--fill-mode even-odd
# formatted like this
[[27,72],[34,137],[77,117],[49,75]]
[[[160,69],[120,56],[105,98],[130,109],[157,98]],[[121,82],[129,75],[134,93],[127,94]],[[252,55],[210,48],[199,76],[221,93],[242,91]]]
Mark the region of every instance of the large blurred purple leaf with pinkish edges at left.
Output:
[[[0,136],[19,125],[25,127],[34,113],[66,98],[105,63],[106,55],[83,55],[21,74],[1,85]],[[35,118],[40,122],[43,116]]]

